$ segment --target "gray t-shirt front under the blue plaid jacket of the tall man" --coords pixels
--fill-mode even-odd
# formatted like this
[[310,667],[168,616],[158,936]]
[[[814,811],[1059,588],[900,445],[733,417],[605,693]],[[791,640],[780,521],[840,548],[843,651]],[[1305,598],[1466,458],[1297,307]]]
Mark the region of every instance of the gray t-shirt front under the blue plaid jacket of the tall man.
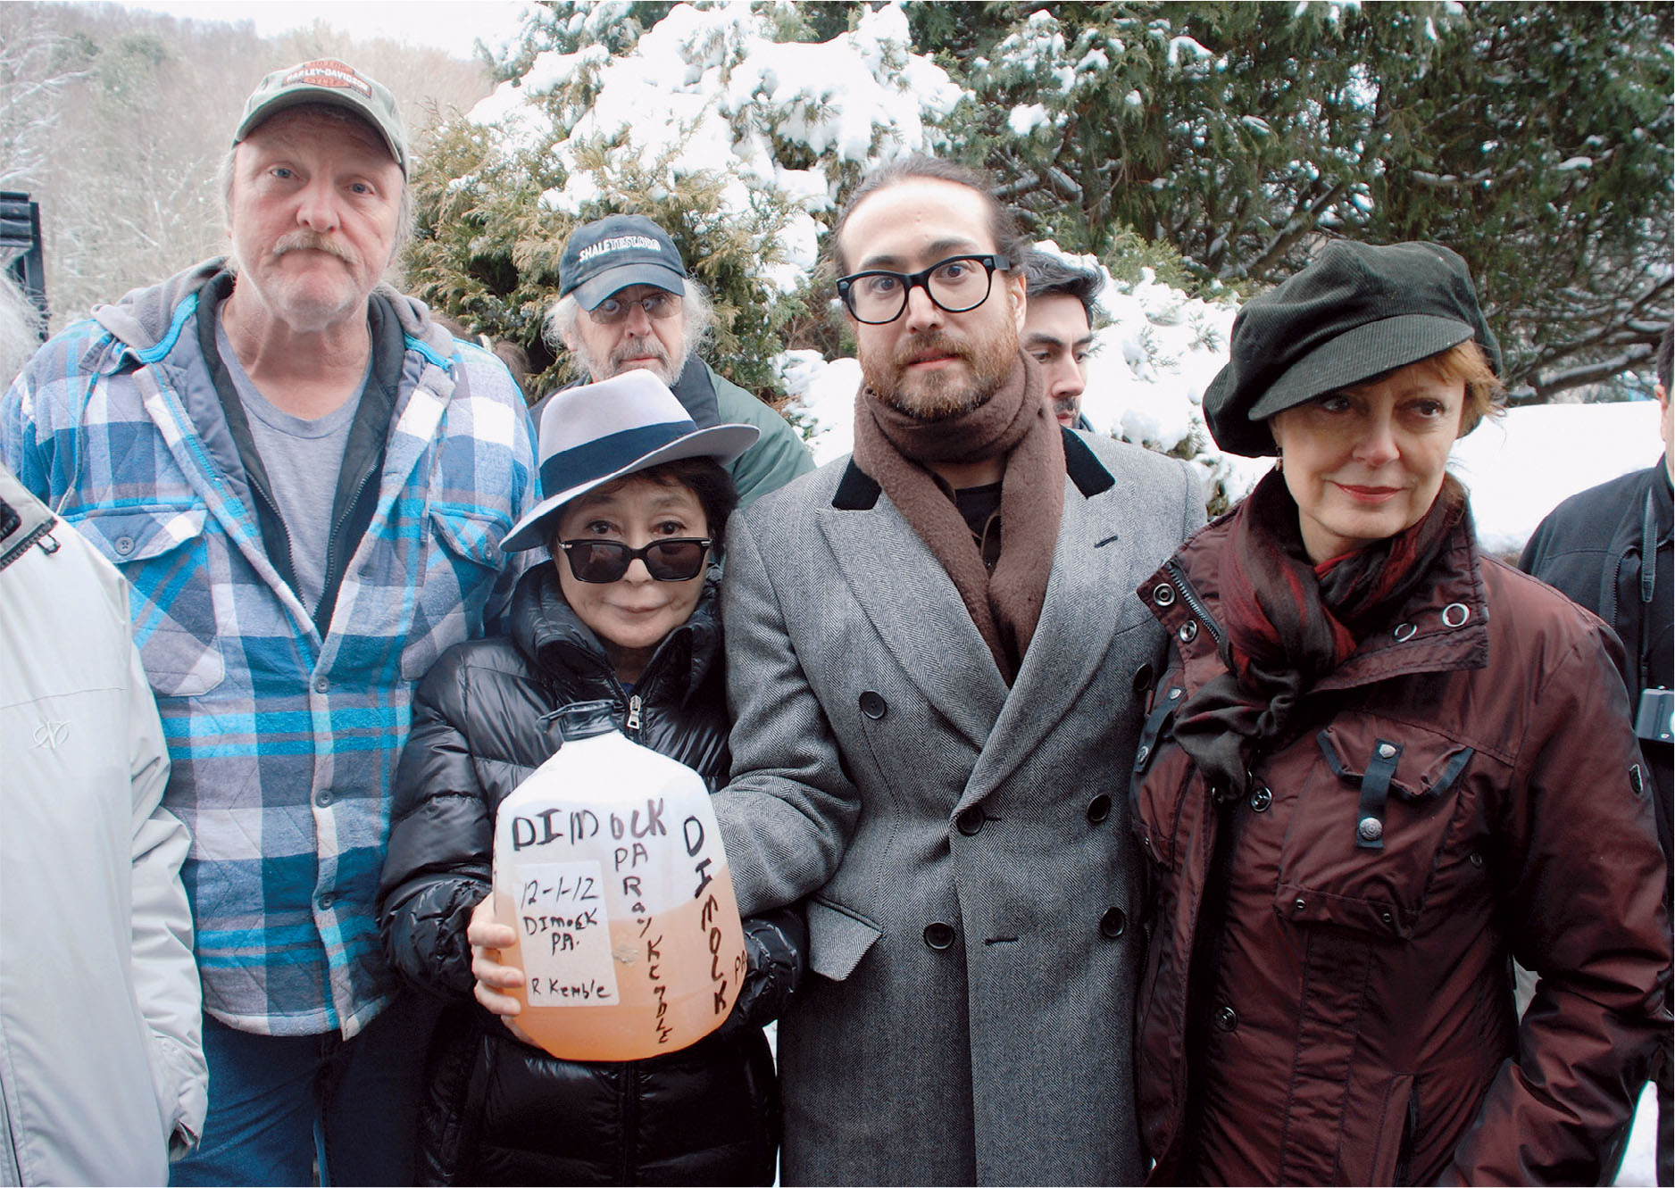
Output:
[[296,595],[308,613],[315,613],[325,590],[327,550],[332,546],[332,503],[337,498],[337,476],[343,469],[343,451],[348,447],[348,429],[355,424],[355,409],[372,379],[372,360],[360,379],[360,389],[342,407],[323,417],[308,421],[293,417],[268,402],[245,374],[238,362],[226,327],[219,322],[214,332],[216,349],[226,364],[228,379],[238,390],[250,421],[250,436],[268,471],[273,501],[280,504],[280,519],[291,538],[291,573],[296,576]]

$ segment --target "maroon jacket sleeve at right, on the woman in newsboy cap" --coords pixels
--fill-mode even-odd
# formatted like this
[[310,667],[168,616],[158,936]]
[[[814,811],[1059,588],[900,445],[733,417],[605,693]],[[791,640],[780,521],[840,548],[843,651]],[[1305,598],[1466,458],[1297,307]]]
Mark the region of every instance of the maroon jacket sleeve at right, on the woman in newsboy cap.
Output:
[[1519,1052],[1444,1183],[1596,1183],[1668,1029],[1663,856],[1598,620],[1528,687],[1502,836],[1513,955],[1541,975]]

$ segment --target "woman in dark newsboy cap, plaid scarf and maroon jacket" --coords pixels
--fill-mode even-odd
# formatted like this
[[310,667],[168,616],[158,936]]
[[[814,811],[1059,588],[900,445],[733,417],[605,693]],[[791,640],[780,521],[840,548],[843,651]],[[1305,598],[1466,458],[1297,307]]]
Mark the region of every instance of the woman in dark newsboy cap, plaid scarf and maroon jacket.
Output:
[[1156,1183],[1610,1173],[1662,856],[1616,640],[1479,555],[1447,473],[1499,362],[1429,243],[1332,243],[1233,323],[1209,429],[1275,467],[1139,591],[1174,640],[1131,788]]

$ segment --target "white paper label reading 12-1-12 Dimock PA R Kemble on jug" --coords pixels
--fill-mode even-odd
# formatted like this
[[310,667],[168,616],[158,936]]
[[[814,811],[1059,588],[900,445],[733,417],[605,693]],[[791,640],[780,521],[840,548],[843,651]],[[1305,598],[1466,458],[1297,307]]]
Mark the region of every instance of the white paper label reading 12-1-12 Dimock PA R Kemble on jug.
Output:
[[616,1004],[600,863],[519,863],[518,940],[531,1007]]

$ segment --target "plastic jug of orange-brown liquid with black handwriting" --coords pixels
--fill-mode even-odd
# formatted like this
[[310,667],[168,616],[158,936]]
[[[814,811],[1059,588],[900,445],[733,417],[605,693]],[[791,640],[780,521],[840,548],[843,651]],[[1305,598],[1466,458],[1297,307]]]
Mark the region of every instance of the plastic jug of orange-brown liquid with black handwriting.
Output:
[[611,702],[559,710],[563,746],[499,806],[494,913],[518,932],[518,1025],[570,1061],[638,1061],[720,1027],[745,975],[704,779],[623,737]]

